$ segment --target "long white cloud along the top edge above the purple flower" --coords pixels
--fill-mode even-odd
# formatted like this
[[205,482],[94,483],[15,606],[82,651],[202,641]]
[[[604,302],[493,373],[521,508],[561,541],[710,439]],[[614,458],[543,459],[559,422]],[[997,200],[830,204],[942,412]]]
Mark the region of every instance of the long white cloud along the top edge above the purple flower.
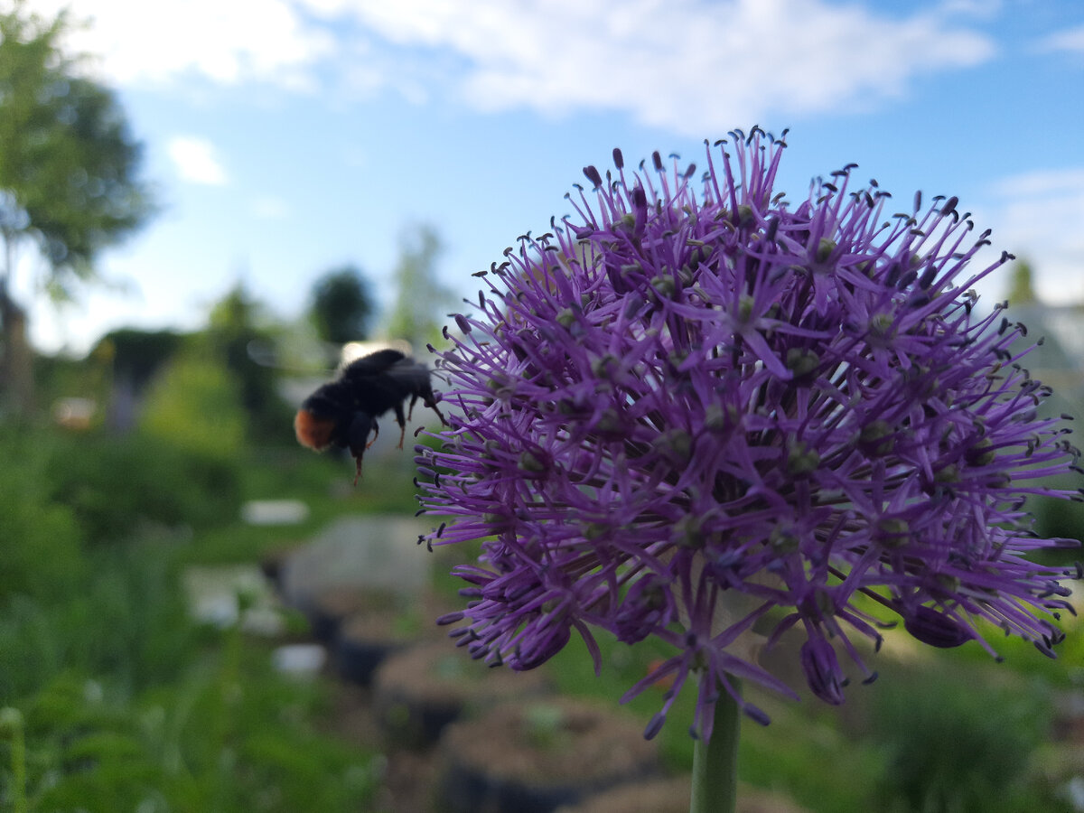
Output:
[[386,41],[451,53],[481,109],[624,111],[688,133],[867,105],[993,54],[935,13],[823,0],[338,0]]

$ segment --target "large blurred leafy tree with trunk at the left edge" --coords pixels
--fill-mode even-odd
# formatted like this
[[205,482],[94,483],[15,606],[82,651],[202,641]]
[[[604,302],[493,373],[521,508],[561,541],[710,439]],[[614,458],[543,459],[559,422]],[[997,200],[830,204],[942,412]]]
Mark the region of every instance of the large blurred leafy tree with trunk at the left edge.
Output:
[[33,382],[26,315],[12,297],[16,249],[34,245],[46,291],[63,298],[154,208],[139,179],[142,145],[113,92],[62,51],[68,28],[64,12],[46,20],[24,0],[0,12],[0,391],[22,410]]

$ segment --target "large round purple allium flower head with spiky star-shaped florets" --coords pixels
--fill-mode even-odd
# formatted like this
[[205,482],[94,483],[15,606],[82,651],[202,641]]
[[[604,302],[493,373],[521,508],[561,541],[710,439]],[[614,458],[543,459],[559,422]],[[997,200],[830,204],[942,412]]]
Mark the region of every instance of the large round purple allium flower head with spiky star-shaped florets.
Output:
[[[968,261],[988,243],[956,198],[888,217],[853,166],[791,208],[785,146],[736,133],[694,167],[584,173],[578,218],[520,238],[441,354],[461,414],[417,447],[434,544],[485,539],[452,634],[530,669],[576,630],[674,655],[630,691],[698,686],[696,728],[732,675],[793,695],[757,664],[797,629],[815,695],[841,702],[838,655],[902,619],[932,646],[982,642],[982,620],[1035,642],[1071,609],[1034,564],[1030,481],[1076,451],[1036,416],[1048,393],[1017,362],[1023,328],[972,311]],[[717,146],[724,144],[719,142]],[[439,473],[439,474],[438,474]]]

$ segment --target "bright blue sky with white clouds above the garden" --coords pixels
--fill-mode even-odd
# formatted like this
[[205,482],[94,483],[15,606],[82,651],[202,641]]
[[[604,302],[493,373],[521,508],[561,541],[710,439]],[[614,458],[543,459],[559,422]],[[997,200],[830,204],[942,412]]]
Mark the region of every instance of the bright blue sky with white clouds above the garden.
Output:
[[[0,0],[3,2],[3,0]],[[51,13],[55,0],[30,0]],[[844,164],[901,209],[957,195],[1040,295],[1084,300],[1084,3],[1079,0],[73,0],[145,144],[162,212],[105,254],[106,284],[31,336],[86,350],[118,326],[191,328],[243,281],[294,319],[353,262],[391,294],[428,222],[441,280],[570,211],[581,167],[790,128],[782,189]],[[989,257],[992,261],[995,251]],[[24,258],[20,285],[36,269]],[[983,289],[1004,297],[1006,280]]]

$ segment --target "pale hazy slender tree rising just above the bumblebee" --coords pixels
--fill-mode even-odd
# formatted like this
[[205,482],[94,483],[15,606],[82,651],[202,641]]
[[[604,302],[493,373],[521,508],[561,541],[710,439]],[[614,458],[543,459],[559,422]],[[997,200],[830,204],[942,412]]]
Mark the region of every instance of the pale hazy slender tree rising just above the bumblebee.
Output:
[[403,232],[395,270],[396,301],[388,318],[389,338],[406,339],[416,348],[440,338],[441,310],[452,301],[452,292],[437,280],[436,262],[443,245],[428,224]]

